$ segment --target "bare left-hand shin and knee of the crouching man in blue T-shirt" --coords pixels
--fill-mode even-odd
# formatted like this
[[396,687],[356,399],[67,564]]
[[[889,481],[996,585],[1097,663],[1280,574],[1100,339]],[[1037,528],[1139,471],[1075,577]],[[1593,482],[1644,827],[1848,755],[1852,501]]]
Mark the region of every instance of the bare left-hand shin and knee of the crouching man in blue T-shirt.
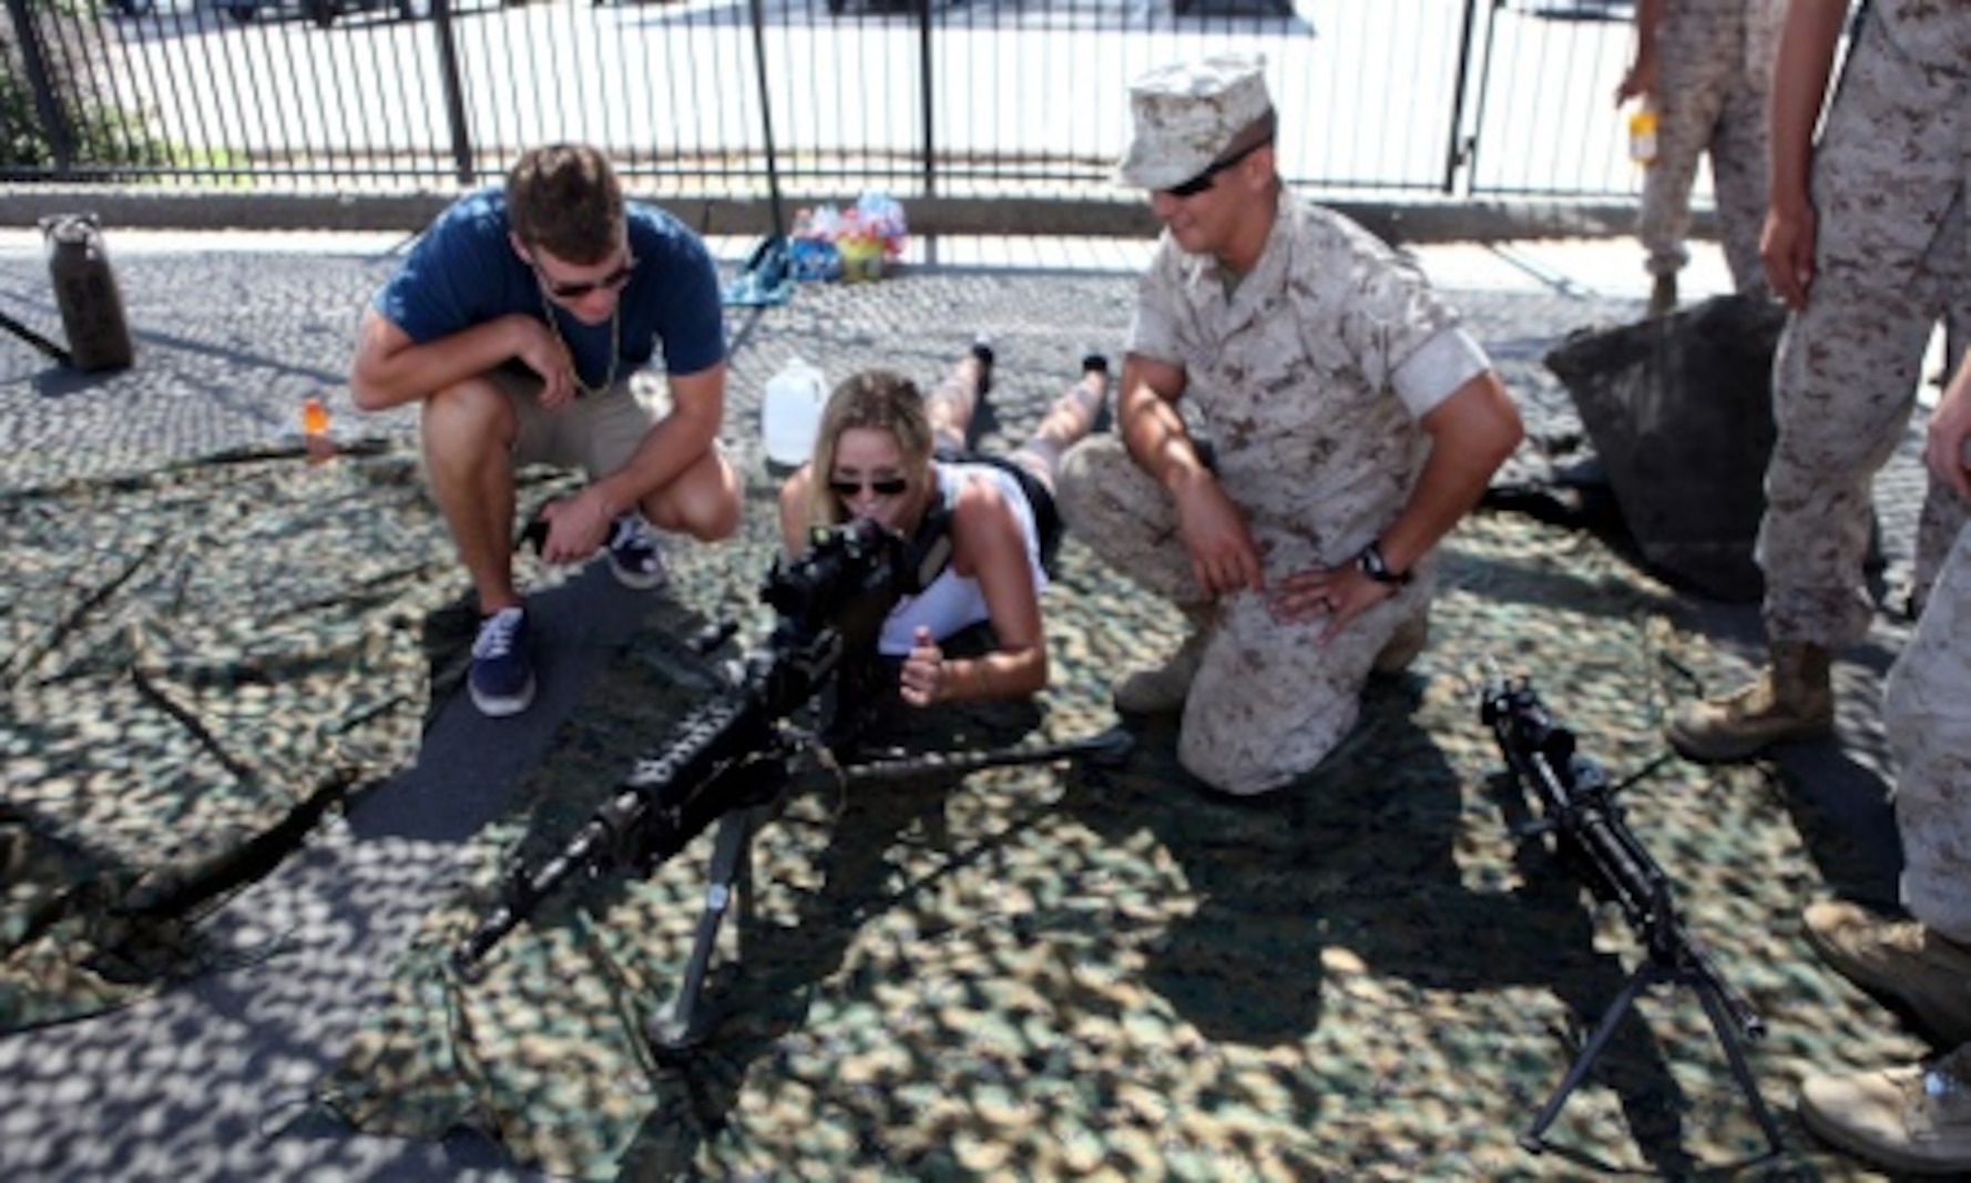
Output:
[[424,400],[424,467],[479,611],[516,607],[512,584],[514,422],[507,394],[471,379]]

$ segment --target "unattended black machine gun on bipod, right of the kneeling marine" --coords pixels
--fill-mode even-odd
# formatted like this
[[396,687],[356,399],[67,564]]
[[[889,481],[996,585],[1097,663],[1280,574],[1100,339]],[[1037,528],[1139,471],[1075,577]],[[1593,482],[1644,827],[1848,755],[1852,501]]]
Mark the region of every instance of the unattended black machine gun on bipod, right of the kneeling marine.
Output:
[[1541,818],[1526,834],[1549,834],[1561,862],[1573,870],[1589,893],[1600,903],[1614,903],[1642,940],[1646,960],[1630,974],[1600,1025],[1583,1045],[1561,1086],[1545,1108],[1520,1136],[1520,1146],[1545,1149],[1547,1126],[1561,1112],[1567,1096],[1581,1084],[1595,1057],[1600,1055],[1616,1023],[1636,1004],[1636,998],[1660,982],[1691,986],[1725,1047],[1738,1088],[1752,1104],[1752,1114],[1772,1153],[1780,1151],[1780,1128],[1774,1124],[1758,1082],[1746,1065],[1740,1037],[1760,1039],[1764,1021],[1719,974],[1703,942],[1691,935],[1677,909],[1669,877],[1650,858],[1622,816],[1616,795],[1626,785],[1610,785],[1606,773],[1583,755],[1575,733],[1557,726],[1531,682],[1526,678],[1490,676],[1480,700],[1480,718],[1498,739],[1506,767],[1522,791],[1539,804]]

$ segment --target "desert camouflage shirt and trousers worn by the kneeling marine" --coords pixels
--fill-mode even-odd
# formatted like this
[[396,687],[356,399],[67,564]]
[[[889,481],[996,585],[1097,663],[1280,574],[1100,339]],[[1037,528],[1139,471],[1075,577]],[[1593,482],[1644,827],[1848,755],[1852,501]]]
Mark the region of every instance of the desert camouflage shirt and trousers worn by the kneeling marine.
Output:
[[[1165,237],[1137,298],[1129,351],[1181,365],[1218,481],[1250,515],[1269,584],[1340,566],[1403,509],[1429,436],[1417,418],[1488,369],[1425,280],[1354,223],[1281,193],[1259,266],[1236,292],[1214,260]],[[1378,651],[1431,597],[1415,582],[1321,645],[1325,619],[1273,619],[1259,593],[1198,603],[1171,497],[1121,440],[1062,461],[1076,538],[1157,595],[1210,617],[1179,759],[1226,793],[1315,767],[1354,726]]]

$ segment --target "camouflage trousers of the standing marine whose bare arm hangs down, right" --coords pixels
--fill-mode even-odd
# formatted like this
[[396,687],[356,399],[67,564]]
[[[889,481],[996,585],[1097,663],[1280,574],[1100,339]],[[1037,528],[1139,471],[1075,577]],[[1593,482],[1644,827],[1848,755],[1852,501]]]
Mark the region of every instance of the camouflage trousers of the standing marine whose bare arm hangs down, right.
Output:
[[[1813,152],[1813,288],[1774,361],[1758,536],[1770,641],[1839,651],[1869,629],[1874,473],[1902,442],[1937,317],[1971,325],[1967,172],[1971,4],[1874,0]],[[1918,603],[1963,521],[1963,501],[1932,477]]]

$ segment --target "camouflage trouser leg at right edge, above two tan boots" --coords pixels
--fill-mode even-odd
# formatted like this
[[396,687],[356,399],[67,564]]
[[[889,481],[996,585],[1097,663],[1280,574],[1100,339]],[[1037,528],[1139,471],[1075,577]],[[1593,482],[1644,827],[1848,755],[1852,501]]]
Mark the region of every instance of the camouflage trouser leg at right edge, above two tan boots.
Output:
[[1896,753],[1902,903],[1971,944],[1971,530],[1961,530],[1882,694]]

